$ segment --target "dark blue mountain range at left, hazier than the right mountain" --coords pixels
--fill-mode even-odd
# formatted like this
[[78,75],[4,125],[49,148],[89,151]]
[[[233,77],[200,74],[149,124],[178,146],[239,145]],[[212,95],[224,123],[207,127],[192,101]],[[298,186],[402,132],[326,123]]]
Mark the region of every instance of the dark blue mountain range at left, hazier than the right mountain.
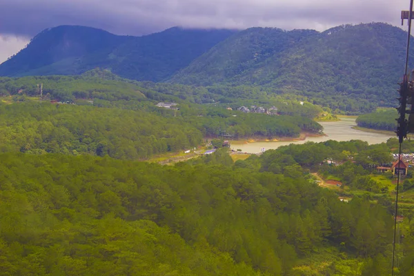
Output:
[[129,79],[162,81],[233,33],[175,27],[130,37],[83,26],[59,26],[43,30],[26,48],[1,63],[0,76],[79,75],[99,67]]

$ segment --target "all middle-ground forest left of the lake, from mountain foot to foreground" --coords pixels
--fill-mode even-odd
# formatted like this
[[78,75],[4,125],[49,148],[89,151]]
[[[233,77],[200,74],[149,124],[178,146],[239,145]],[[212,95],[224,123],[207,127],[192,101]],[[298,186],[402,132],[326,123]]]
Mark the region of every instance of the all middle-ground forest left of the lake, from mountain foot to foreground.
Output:
[[[204,137],[298,137],[322,131],[313,121],[322,110],[311,103],[279,102],[279,116],[245,114],[190,103],[184,92],[166,95],[139,84],[101,70],[0,78],[0,151],[136,160],[195,148]],[[178,103],[179,109],[159,108],[159,101]]]

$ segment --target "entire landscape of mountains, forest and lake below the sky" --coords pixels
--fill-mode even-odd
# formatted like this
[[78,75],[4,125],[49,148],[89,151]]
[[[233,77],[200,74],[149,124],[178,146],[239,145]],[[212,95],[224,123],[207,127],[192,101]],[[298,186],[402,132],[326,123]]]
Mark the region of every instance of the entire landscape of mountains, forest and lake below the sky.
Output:
[[404,35],[40,32],[0,65],[1,273],[389,276],[397,215],[413,275],[414,141],[394,214],[398,141],[355,128],[395,129]]

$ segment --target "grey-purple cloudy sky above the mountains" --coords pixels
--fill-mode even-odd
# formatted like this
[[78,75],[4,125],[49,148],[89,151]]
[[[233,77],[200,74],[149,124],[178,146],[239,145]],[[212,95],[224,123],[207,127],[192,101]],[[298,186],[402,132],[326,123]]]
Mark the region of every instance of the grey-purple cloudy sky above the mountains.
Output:
[[408,8],[408,0],[0,0],[0,63],[59,25],[130,35],[172,26],[326,30],[377,21],[400,26],[400,12]]

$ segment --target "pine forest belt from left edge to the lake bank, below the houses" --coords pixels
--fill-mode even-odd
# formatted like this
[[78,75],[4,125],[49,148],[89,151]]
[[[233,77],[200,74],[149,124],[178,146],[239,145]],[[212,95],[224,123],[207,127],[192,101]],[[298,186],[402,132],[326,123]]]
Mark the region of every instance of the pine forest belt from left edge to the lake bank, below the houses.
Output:
[[201,110],[204,115],[160,111],[33,101],[0,104],[0,151],[135,160],[188,150],[199,146],[204,137],[297,137],[302,131],[322,131],[322,126],[306,117],[242,112],[234,117],[220,108]]

